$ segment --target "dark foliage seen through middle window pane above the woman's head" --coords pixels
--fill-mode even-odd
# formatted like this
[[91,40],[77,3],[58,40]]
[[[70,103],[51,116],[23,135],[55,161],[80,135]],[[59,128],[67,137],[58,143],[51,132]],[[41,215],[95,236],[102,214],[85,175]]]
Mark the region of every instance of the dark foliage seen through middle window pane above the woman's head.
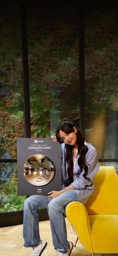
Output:
[[27,6],[27,42],[31,136],[50,137],[62,118],[79,117],[75,5]]

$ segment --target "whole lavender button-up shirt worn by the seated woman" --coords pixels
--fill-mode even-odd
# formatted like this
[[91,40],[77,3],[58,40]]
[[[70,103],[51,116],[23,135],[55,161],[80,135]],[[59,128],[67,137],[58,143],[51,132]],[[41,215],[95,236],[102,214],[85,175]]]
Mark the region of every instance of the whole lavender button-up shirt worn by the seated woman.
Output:
[[[77,173],[80,172],[80,167],[78,166],[78,163],[77,163],[79,154],[77,154],[75,165],[73,167],[73,182],[71,183],[71,185],[75,188],[75,192],[77,194],[76,201],[80,201],[82,203],[85,203],[87,201],[89,195],[94,190],[92,179],[99,168],[96,149],[89,143],[85,142],[85,145],[88,148],[88,151],[85,155],[85,161],[88,167],[86,178],[88,179],[85,179],[83,177],[84,169],[81,171],[79,175],[77,175]],[[62,188],[64,188],[64,180],[67,178],[67,162],[65,158],[66,149],[65,149],[64,143],[61,144],[61,149],[62,149]]]

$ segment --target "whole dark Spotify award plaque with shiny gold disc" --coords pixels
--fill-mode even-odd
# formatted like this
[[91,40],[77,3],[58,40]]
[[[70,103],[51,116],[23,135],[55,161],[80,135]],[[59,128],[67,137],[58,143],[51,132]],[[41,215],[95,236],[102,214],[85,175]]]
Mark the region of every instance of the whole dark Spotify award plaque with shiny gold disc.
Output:
[[17,194],[61,190],[61,145],[46,138],[17,138]]

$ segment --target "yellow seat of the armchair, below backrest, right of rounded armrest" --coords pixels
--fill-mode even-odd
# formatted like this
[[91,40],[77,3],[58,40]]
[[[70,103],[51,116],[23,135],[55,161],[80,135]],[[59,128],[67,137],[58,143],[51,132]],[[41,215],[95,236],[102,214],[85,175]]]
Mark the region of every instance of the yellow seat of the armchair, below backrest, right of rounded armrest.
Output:
[[118,215],[89,215],[95,253],[118,252]]

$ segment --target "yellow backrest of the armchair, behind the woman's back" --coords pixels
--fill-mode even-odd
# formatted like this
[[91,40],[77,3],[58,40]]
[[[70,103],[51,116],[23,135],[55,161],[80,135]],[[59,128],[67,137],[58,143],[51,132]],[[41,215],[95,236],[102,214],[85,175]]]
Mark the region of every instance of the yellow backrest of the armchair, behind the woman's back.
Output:
[[100,166],[93,178],[94,192],[85,208],[88,215],[118,214],[118,176],[113,166]]

